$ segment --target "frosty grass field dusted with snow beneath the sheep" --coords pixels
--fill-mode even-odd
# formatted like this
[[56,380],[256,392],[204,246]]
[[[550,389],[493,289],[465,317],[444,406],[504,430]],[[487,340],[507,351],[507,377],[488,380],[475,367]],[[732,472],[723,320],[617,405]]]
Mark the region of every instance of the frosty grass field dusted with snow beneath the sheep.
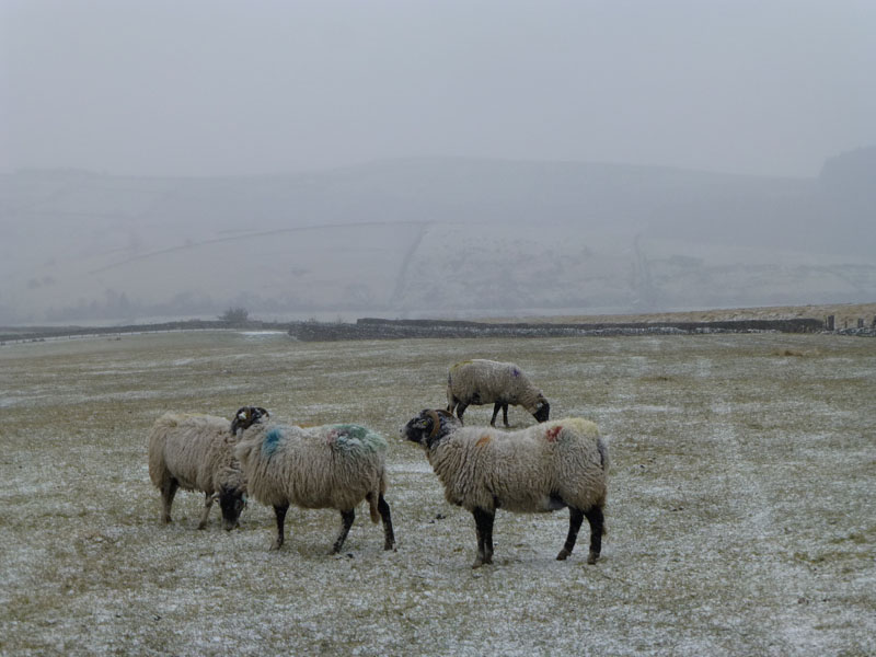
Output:
[[[471,516],[399,429],[443,406],[447,368],[517,361],[608,437],[602,558],[568,514]],[[166,333],[0,347],[3,655],[876,654],[876,341],[829,335],[301,344]],[[390,441],[397,538],[360,507],[242,529],[180,493],[159,523],[146,435],[164,411],[355,420]],[[488,407],[472,407],[485,424]],[[511,408],[517,426],[533,420]]]

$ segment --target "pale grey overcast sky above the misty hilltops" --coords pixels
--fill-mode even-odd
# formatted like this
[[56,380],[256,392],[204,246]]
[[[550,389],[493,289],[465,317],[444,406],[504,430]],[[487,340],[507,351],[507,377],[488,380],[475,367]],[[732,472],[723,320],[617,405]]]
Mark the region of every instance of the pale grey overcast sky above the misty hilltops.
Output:
[[408,155],[817,175],[876,143],[876,2],[0,0],[0,171]]

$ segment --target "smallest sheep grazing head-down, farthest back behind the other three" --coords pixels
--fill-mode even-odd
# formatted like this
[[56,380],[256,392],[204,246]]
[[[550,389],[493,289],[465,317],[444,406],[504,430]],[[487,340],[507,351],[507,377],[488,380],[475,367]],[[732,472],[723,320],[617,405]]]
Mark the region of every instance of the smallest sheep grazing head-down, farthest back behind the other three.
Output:
[[546,422],[551,405],[541,390],[529,382],[514,362],[496,360],[463,360],[450,368],[447,374],[447,411],[462,414],[470,404],[495,404],[489,426],[496,426],[496,415],[502,408],[502,419],[508,426],[508,404],[522,406],[539,422]]

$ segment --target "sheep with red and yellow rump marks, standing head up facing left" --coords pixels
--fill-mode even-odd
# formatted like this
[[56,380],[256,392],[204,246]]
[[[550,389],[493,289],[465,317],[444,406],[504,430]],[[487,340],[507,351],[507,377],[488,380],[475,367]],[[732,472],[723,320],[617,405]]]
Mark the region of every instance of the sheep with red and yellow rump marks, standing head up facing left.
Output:
[[602,550],[609,454],[597,426],[579,417],[519,431],[463,427],[446,411],[424,410],[402,429],[423,446],[445,497],[474,516],[477,568],[493,563],[496,509],[516,512],[569,509],[568,535],[560,554],[572,554],[581,521],[590,523],[588,564]]

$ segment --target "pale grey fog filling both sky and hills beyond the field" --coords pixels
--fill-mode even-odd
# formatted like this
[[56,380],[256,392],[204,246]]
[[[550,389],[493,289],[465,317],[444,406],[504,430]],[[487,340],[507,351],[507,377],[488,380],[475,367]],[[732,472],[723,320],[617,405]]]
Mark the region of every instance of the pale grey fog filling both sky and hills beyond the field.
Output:
[[0,322],[869,301],[874,34],[869,1],[0,0]]

